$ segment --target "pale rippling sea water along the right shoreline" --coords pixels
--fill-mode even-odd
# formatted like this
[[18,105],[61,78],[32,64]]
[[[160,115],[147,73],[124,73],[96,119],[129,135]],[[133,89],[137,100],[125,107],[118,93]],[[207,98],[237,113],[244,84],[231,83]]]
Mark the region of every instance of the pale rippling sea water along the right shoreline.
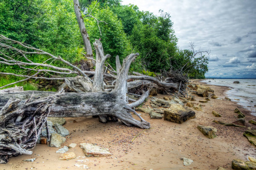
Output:
[[[239,84],[233,83],[239,81]],[[202,82],[215,86],[227,86],[226,95],[231,101],[251,111],[256,116],[256,79],[204,79]],[[237,100],[236,100],[237,99]]]

